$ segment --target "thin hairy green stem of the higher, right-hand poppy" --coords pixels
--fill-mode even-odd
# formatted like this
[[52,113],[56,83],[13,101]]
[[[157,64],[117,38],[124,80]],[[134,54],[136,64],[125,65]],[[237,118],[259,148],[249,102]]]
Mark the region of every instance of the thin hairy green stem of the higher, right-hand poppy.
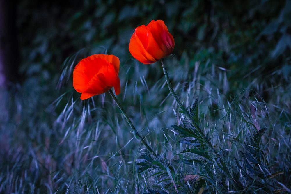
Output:
[[186,118],[189,120],[189,122],[196,128],[197,132],[199,133],[200,137],[205,139],[205,142],[208,144],[208,146],[210,146],[210,148],[212,148],[212,144],[210,143],[210,141],[206,138],[206,136],[204,136],[203,131],[200,129],[200,127],[197,126],[197,124],[194,122],[193,118],[191,118],[191,116],[189,115],[188,111],[186,110],[186,108],[183,106],[183,104],[180,102],[179,98],[177,97],[177,95],[175,94],[175,91],[173,90],[170,78],[168,76],[168,72],[166,69],[166,65],[164,62],[164,59],[161,59],[161,63],[162,63],[162,67],[164,70],[164,74],[166,77],[166,81],[168,84],[168,88],[172,94],[172,96],[174,97],[174,99],[176,100],[178,106],[182,109],[183,114],[186,116]]

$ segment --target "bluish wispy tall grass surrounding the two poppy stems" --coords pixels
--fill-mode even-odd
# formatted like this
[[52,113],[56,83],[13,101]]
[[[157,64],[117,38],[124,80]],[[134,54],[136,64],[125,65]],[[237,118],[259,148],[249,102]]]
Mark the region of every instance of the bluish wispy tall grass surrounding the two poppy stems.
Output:
[[[181,138],[171,127],[191,126],[168,91],[161,65],[127,60],[117,98],[155,158],[135,140],[109,94],[79,99],[71,74],[80,53],[46,87],[31,78],[1,92],[0,193],[290,192],[291,85],[283,78],[265,78],[266,88],[263,79],[249,76],[246,87],[214,63],[191,67],[167,59],[182,104],[192,107],[198,98],[199,125],[213,146],[200,149],[195,138]],[[265,90],[271,93],[267,102]],[[263,128],[256,148],[251,139]],[[194,147],[214,154],[182,153]],[[140,172],[151,160],[162,167],[152,163]]]

